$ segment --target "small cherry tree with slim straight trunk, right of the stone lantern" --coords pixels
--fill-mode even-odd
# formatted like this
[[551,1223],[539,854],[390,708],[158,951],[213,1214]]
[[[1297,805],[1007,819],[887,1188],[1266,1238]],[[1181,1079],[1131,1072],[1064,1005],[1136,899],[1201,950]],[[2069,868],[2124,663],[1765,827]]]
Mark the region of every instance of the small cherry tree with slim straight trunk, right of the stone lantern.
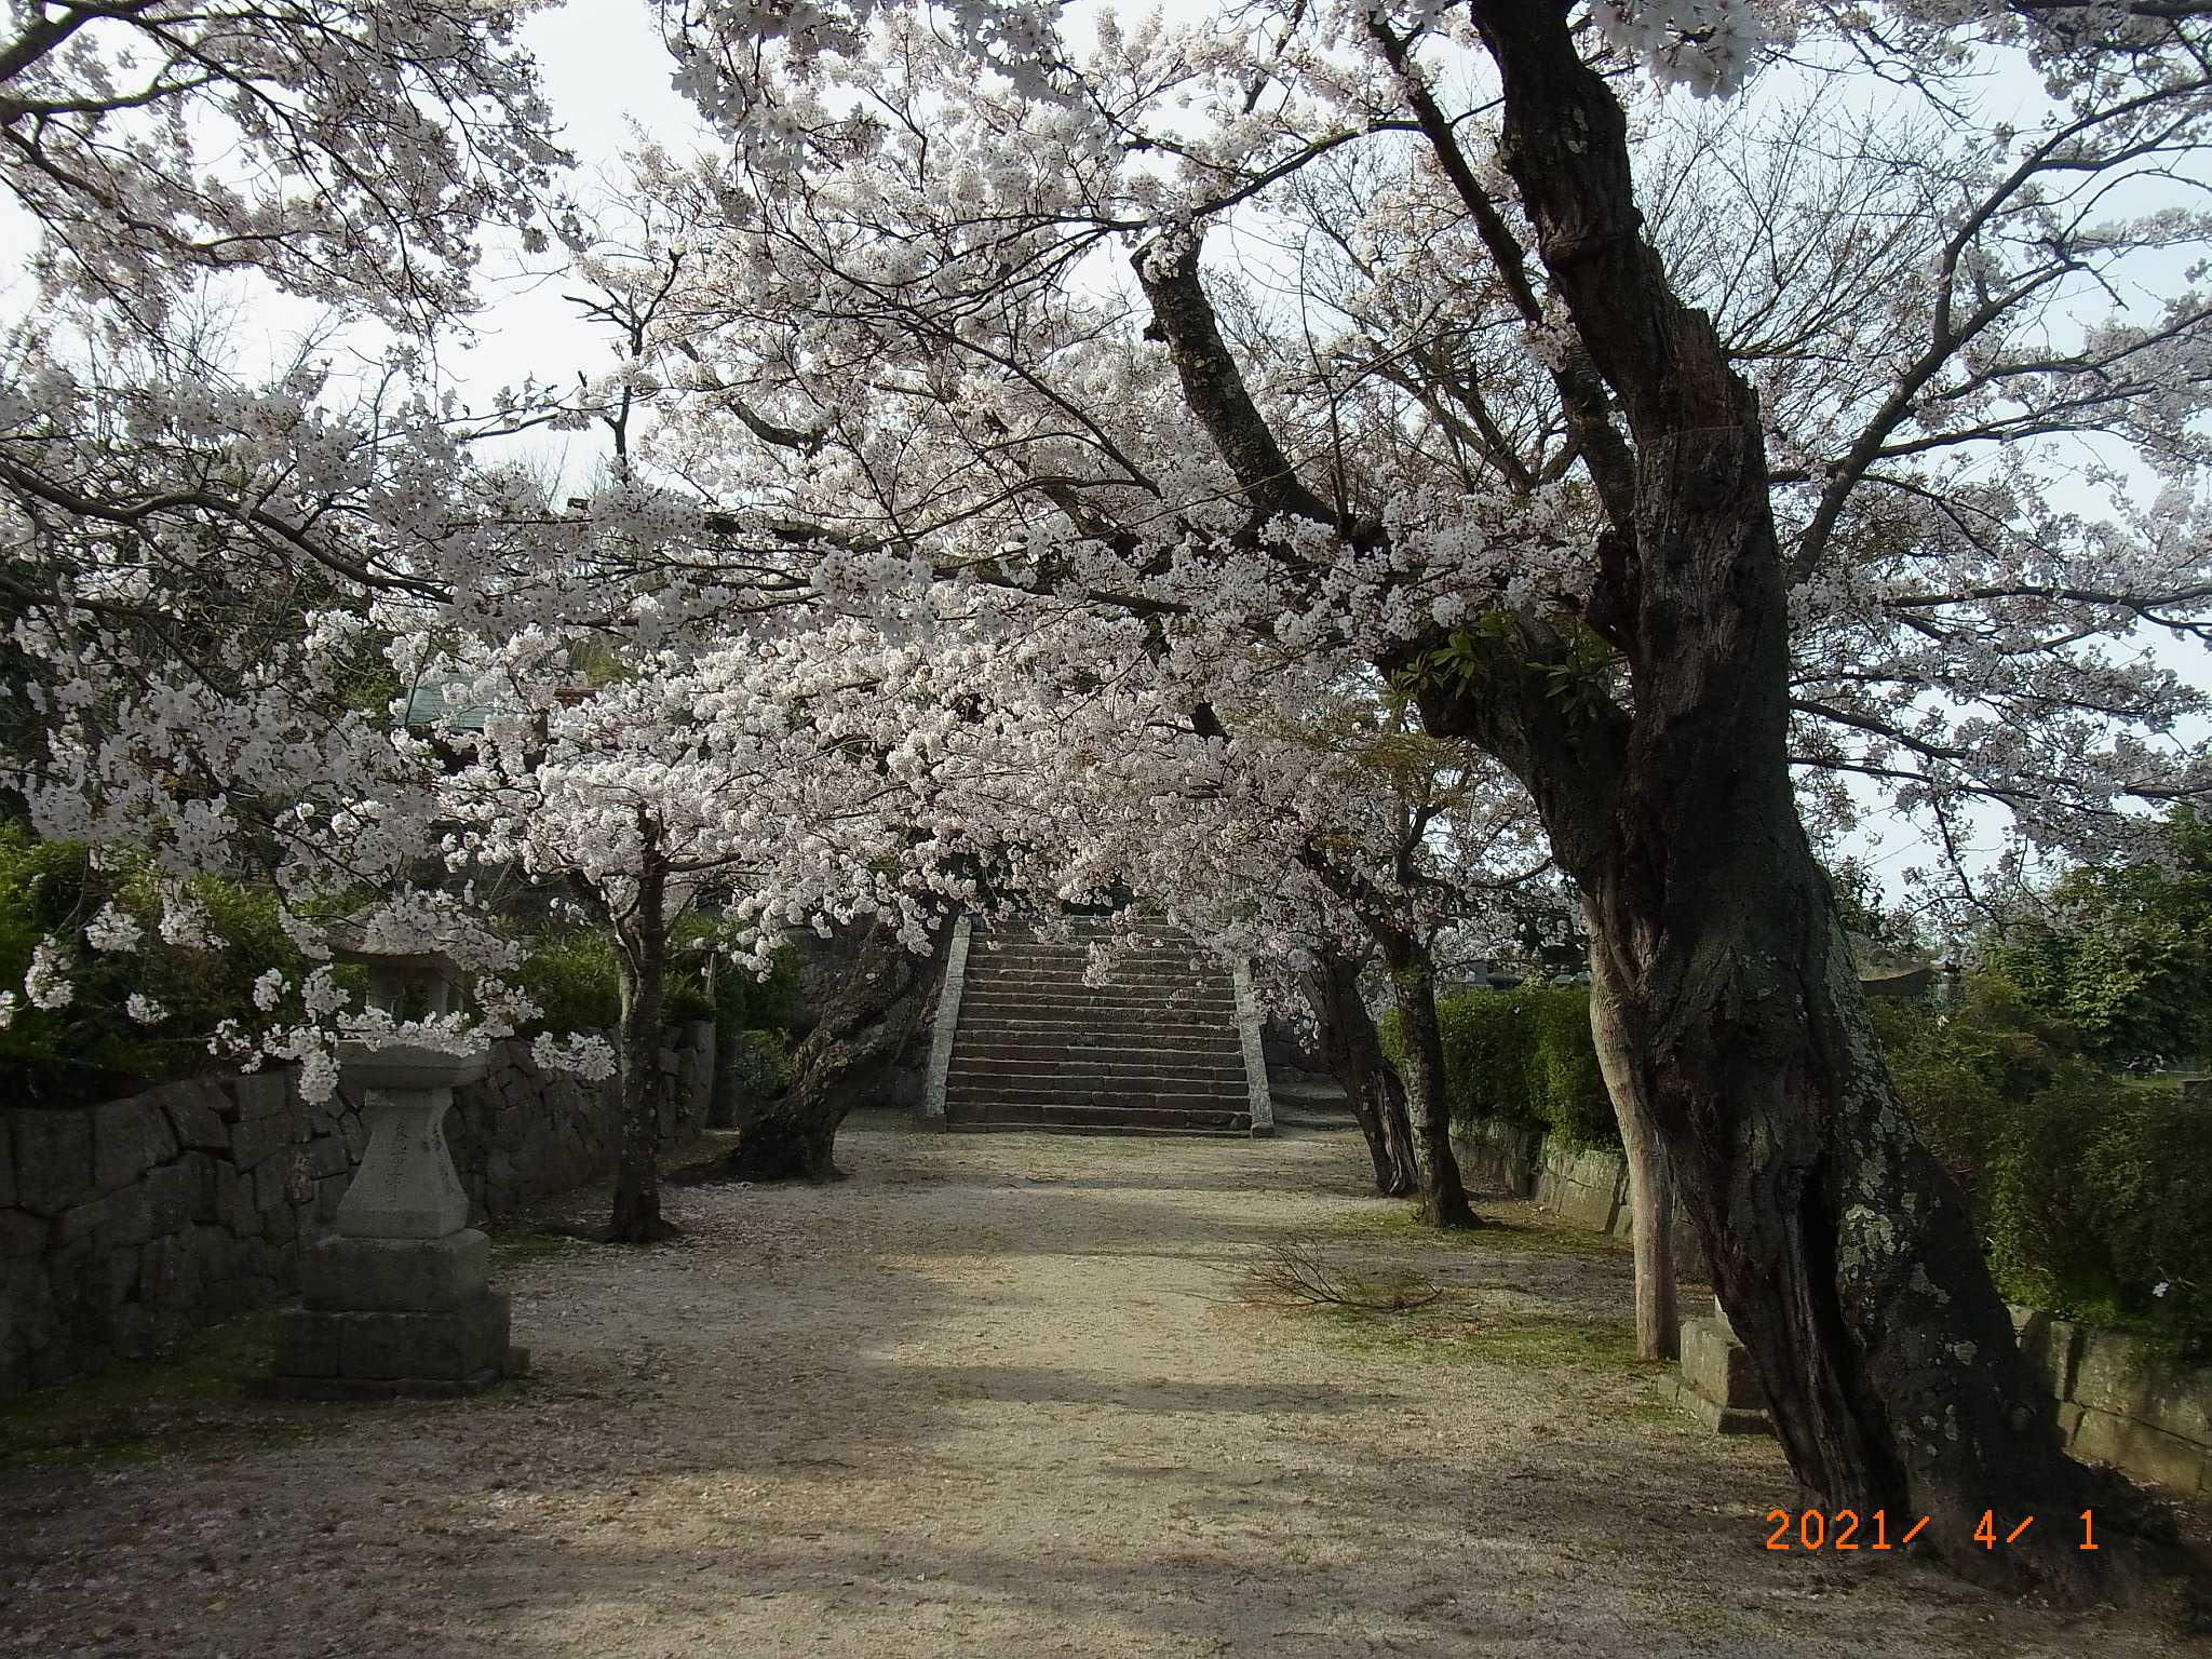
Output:
[[[493,712],[480,728],[442,732],[465,763],[438,781],[438,810],[451,823],[449,865],[564,887],[613,933],[622,1009],[613,1237],[650,1243],[668,1232],[655,1152],[670,927],[699,907],[730,911],[757,969],[785,920],[883,905],[898,931],[902,894],[889,883],[838,885],[843,872],[896,856],[896,825],[914,812],[898,768],[878,768],[874,750],[852,752],[852,714],[841,708],[856,675],[869,699],[896,695],[898,664],[872,664],[852,630],[805,646],[739,637],[697,657],[661,650],[595,688],[562,679],[568,659],[533,630],[442,666],[469,699],[489,692]],[[774,918],[763,918],[763,894],[779,900]],[[920,920],[925,911],[905,898]],[[810,1060],[801,1055],[801,1084],[818,1088]]]

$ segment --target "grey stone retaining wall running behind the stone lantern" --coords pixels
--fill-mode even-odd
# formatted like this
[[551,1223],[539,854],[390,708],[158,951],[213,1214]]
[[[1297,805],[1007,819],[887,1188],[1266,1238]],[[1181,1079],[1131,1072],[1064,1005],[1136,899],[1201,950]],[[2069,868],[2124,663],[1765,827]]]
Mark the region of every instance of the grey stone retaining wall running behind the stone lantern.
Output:
[[[661,1135],[706,1126],[714,1029],[661,1057]],[[471,1219],[562,1192],[615,1161],[613,1084],[542,1073],[500,1044],[453,1091],[453,1166]],[[199,1077],[104,1106],[0,1106],[0,1396],[299,1290],[367,1146],[361,1102],[310,1106],[294,1077]]]

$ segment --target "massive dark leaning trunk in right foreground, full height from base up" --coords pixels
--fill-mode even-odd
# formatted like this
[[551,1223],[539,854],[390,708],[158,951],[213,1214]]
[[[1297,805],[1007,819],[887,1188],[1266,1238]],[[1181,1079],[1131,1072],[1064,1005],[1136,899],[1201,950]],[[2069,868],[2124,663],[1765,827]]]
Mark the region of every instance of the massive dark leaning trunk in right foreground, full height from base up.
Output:
[[[1584,891],[1630,1097],[1812,1495],[1927,1515],[1922,1546],[1971,1573],[2097,1595],[2152,1557],[2121,1542],[2146,1506],[2066,1458],[1964,1199],[1874,1046],[1796,814],[1756,394],[1641,237],[1626,117],[1568,9],[1473,0],[1471,18],[1500,73],[1500,155],[1635,440],[1628,533],[1586,606],[1632,712],[1568,708],[1531,675],[1504,714],[1473,688],[1438,699],[1442,726],[1458,714],[1515,765]],[[1982,1548],[1984,1511],[2000,1537],[2037,1524]]]

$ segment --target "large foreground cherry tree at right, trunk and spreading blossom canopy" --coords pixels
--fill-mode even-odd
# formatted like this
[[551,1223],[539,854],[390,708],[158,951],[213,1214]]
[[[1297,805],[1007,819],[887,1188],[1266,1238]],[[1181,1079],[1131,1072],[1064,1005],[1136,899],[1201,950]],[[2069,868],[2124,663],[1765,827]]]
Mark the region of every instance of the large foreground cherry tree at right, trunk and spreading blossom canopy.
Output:
[[[2028,1405],[1807,814],[1860,779],[1940,845],[1993,803],[2101,856],[2203,787],[2199,697],[2137,644],[2208,593],[2199,11],[1298,4],[1026,58],[998,15],[686,13],[748,124],[734,168],[648,173],[706,250],[661,460],[1119,608],[1219,699],[1283,655],[1391,670],[1577,883],[1624,1139],[1807,1486],[1951,1537],[1993,1498],[2130,1511]],[[1763,53],[1927,117],[1847,168],[1772,124],[1668,144],[1655,84]],[[2046,82],[2026,126],[1975,106],[1991,53]]]

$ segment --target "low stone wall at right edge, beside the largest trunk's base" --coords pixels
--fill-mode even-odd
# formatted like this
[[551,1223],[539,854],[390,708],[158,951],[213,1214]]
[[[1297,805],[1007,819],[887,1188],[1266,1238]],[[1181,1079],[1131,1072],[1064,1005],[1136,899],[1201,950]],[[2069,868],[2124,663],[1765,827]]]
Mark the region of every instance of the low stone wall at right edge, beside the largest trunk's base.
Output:
[[2015,1307],[2013,1325],[2077,1458],[2183,1498],[2212,1498],[2212,1367],[2170,1365],[2137,1336],[2035,1307]]

